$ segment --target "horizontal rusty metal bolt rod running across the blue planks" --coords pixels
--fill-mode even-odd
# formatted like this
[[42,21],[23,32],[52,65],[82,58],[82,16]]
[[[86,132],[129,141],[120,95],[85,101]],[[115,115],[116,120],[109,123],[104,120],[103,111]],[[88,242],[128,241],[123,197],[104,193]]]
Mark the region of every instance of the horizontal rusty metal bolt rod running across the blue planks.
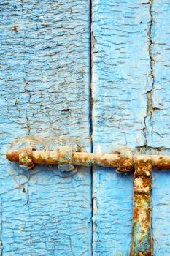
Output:
[[[21,150],[22,151],[22,148]],[[19,150],[8,151],[6,158],[12,162],[19,162]],[[139,155],[121,154],[98,154],[72,152],[73,165],[98,165],[101,167],[121,167],[122,171],[132,170],[136,164],[136,157]],[[160,169],[170,168],[170,155],[140,155],[144,160],[150,159],[152,167]],[[31,159],[34,164],[55,164],[58,165],[58,151],[32,151]],[[121,171],[121,170],[120,170]]]

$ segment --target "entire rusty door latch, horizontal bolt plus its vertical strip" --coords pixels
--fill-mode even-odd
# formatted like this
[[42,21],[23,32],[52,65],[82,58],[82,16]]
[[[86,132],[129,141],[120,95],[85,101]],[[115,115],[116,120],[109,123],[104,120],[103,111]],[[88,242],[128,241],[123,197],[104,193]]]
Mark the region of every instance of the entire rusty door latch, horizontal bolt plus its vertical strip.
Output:
[[8,151],[9,161],[19,162],[28,168],[35,164],[58,165],[63,171],[73,170],[74,165],[115,167],[120,173],[134,171],[133,227],[130,256],[152,256],[152,230],[150,225],[150,197],[152,167],[170,168],[168,155],[133,155],[130,151],[120,154],[74,152],[63,146],[57,151],[36,151],[30,146]]

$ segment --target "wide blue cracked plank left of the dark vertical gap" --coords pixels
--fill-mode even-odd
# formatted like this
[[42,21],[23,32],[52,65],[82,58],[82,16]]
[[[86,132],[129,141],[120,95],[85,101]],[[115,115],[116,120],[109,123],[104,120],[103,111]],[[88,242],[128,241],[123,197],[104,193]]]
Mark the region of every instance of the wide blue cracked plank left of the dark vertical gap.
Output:
[[4,159],[23,135],[76,138],[90,151],[89,8],[1,1],[1,255],[91,255],[89,169],[20,174]]

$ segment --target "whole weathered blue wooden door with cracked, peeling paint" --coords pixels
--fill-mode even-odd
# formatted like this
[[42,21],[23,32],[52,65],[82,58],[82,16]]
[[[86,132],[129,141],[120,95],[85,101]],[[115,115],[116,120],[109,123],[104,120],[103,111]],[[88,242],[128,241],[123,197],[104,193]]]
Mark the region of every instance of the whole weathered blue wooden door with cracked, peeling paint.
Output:
[[[1,1],[1,255],[128,255],[133,175],[63,178],[4,155],[30,135],[39,147],[168,154],[169,15],[166,0]],[[170,255],[169,182],[153,171],[156,256]]]

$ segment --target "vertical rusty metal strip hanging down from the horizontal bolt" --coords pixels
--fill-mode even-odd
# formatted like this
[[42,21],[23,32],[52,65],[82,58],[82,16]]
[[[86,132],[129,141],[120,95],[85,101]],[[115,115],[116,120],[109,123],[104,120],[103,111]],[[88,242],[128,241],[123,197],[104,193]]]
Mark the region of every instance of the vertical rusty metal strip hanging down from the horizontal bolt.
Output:
[[133,228],[130,256],[152,256],[151,181],[152,161],[137,158],[134,173]]

